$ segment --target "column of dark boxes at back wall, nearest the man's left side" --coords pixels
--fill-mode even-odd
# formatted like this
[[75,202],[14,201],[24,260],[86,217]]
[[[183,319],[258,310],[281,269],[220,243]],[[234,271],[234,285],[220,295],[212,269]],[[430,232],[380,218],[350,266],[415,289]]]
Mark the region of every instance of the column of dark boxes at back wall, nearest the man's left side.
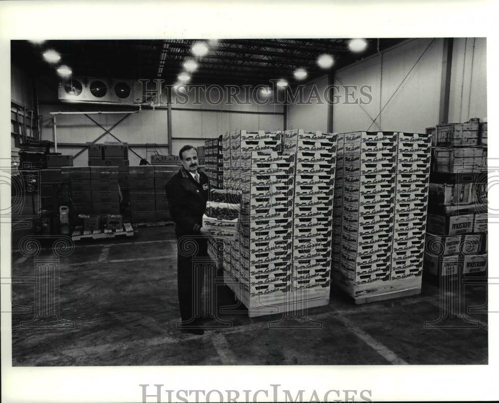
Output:
[[128,172],[132,223],[156,222],[155,168],[143,165],[132,167]]

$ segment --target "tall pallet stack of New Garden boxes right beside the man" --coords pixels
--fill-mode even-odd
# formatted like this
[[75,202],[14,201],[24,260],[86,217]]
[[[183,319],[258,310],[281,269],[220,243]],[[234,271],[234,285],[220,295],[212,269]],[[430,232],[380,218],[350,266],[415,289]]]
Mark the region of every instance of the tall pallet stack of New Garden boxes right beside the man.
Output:
[[237,131],[222,147],[225,183],[242,195],[238,236],[224,245],[226,283],[250,316],[327,304],[332,195],[318,193],[333,190],[335,135]]

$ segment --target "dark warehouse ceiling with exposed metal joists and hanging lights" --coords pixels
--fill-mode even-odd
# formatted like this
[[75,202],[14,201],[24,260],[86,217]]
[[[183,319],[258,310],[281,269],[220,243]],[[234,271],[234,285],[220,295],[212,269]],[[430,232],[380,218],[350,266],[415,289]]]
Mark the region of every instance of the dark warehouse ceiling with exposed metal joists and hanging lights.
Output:
[[[73,76],[164,79],[174,84],[184,70],[183,63],[195,59],[198,68],[190,84],[268,84],[269,80],[297,82],[293,72],[303,68],[304,81],[331,73],[357,60],[382,51],[403,38],[366,39],[361,52],[349,49],[349,39],[224,39],[206,41],[208,52],[202,57],[192,54],[197,39],[154,40],[47,40],[33,43],[11,41],[12,62],[38,74],[54,75],[54,65],[42,53],[54,49],[61,55],[59,64],[72,69]],[[329,69],[317,65],[321,54],[329,54],[334,64]]]

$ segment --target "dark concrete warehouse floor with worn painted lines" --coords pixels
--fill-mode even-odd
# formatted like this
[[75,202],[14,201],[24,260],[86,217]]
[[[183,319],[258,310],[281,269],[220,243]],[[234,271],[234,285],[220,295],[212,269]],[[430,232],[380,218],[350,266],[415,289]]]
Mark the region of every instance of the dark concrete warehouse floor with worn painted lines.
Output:
[[[12,232],[13,366],[488,363],[487,314],[451,317],[456,312],[441,308],[441,297],[451,306],[456,295],[427,282],[420,295],[364,305],[333,290],[329,305],[304,316],[256,318],[222,285],[217,312],[227,312],[207,320],[203,336],[183,333],[176,328],[174,227],[136,229],[133,237],[78,241],[60,257],[61,320],[45,327],[32,326],[35,260],[19,250],[31,232]],[[54,261],[50,245],[36,257],[43,258]],[[487,304],[480,281],[462,295],[465,311]]]

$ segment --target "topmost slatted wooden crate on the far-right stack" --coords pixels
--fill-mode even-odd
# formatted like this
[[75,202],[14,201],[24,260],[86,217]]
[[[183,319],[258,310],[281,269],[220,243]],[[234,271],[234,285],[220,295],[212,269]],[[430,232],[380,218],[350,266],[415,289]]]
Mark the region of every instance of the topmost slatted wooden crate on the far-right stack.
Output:
[[474,147],[479,145],[479,122],[449,123],[426,129],[437,147]]

